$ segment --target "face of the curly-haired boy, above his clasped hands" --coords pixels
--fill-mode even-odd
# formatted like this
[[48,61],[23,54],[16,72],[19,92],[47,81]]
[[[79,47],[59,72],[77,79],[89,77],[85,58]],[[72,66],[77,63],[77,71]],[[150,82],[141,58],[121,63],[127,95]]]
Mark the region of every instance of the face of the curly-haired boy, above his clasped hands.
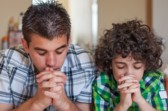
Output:
[[122,76],[135,75],[137,80],[141,80],[144,74],[145,64],[142,61],[136,61],[129,55],[126,58],[118,55],[112,60],[112,71],[116,81]]

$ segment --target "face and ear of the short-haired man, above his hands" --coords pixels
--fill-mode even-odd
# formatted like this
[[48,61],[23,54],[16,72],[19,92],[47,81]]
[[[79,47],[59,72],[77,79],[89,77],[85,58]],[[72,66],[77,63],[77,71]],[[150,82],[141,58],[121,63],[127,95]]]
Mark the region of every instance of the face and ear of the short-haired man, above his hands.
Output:
[[48,40],[37,34],[31,35],[29,46],[23,39],[22,44],[25,51],[30,55],[38,72],[44,71],[46,67],[59,70],[64,63],[69,47],[66,35]]

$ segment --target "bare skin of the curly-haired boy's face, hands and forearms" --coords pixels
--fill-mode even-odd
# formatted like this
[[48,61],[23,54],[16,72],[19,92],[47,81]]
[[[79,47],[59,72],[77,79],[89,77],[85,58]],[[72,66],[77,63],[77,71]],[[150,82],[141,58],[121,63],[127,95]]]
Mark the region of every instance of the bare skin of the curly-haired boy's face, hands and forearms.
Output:
[[133,102],[137,103],[141,111],[156,111],[141,95],[139,81],[145,71],[142,61],[134,60],[131,55],[126,58],[118,55],[112,60],[112,70],[121,96],[114,111],[127,111]]

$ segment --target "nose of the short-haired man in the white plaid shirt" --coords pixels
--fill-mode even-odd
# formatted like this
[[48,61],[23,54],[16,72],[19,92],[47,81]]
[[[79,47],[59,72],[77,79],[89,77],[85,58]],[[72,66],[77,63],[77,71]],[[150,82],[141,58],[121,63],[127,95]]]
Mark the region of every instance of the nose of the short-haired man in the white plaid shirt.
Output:
[[54,68],[56,63],[56,57],[54,54],[49,53],[46,57],[46,66],[50,68]]

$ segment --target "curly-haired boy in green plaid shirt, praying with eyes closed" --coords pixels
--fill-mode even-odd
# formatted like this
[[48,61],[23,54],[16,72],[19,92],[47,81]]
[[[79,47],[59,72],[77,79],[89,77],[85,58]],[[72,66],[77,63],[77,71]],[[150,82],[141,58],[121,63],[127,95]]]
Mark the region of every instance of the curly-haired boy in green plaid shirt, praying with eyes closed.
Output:
[[168,109],[161,65],[162,42],[139,20],[113,24],[100,39],[93,84],[96,111]]

